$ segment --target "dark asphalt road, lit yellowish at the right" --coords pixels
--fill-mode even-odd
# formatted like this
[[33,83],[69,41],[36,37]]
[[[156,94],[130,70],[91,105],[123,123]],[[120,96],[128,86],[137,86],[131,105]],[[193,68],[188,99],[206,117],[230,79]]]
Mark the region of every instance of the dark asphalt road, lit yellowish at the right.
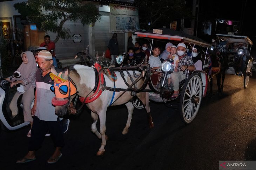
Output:
[[[155,127],[149,129],[146,111],[135,109],[129,132],[122,134],[128,112],[124,105],[107,112],[109,137],[103,156],[96,156],[101,145],[90,131],[90,113],[70,118],[64,134],[66,145],[56,164],[47,160],[54,151],[46,136],[36,160],[16,164],[27,153],[29,127],[0,134],[1,170],[210,170],[219,169],[219,161],[256,160],[256,74],[243,88],[243,78],[226,75],[224,94],[203,99],[193,123],[182,123],[179,112],[163,103],[150,102]],[[99,123],[98,123],[99,124]]]

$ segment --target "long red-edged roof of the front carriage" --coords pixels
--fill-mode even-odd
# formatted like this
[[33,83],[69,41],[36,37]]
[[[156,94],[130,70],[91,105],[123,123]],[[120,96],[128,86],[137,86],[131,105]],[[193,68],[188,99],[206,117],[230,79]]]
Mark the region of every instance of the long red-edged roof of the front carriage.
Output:
[[154,33],[153,30],[135,31],[134,34],[136,34],[140,38],[166,39],[166,40],[173,40],[173,41],[183,42],[183,43],[192,43],[192,44],[200,45],[203,47],[211,46],[211,44],[205,42],[204,40],[202,40],[198,37],[195,37],[195,36],[180,32],[180,31],[171,30],[171,29],[167,29],[167,28],[157,29],[157,30],[162,30],[162,34]]

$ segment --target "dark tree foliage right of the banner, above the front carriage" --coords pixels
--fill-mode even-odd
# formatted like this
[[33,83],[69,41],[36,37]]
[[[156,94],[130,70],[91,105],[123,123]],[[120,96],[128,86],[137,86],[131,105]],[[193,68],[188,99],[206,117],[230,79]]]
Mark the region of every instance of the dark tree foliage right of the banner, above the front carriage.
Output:
[[142,29],[159,28],[183,17],[192,18],[192,8],[186,7],[184,0],[135,0],[134,3],[139,6]]

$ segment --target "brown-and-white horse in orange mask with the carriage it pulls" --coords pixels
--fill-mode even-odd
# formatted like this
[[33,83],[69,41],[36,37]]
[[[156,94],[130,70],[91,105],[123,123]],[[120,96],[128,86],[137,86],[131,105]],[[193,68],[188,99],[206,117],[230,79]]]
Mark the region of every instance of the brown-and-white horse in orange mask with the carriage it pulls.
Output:
[[[204,53],[207,53],[208,47],[211,46],[197,37],[169,29],[163,29],[162,33],[137,31],[135,34],[138,37],[150,39],[152,41],[151,46],[154,45],[155,40],[166,40],[175,44],[183,42],[192,48],[195,45],[202,46],[205,49]],[[107,140],[105,122],[108,106],[120,104],[127,106],[128,119],[122,132],[126,134],[130,126],[134,106],[146,109],[149,127],[154,127],[150,113],[149,97],[155,101],[160,99],[160,102],[180,100],[180,116],[184,123],[191,123],[198,113],[202,98],[206,96],[208,75],[204,71],[195,70],[190,72],[187,79],[180,82],[180,97],[171,99],[170,96],[173,90],[166,88],[166,77],[173,71],[172,63],[169,60],[162,63],[161,71],[153,71],[150,69],[147,60],[136,66],[102,68],[99,64],[99,58],[94,62],[89,57],[88,51],[77,54],[77,56],[81,55],[87,57],[93,66],[69,66],[64,74],[52,71],[56,95],[52,103],[56,106],[55,114],[59,116],[67,114],[68,105],[75,94],[79,96],[83,104],[87,105],[91,110],[92,132],[102,139],[97,155],[102,155],[105,152]],[[120,55],[116,58],[116,62],[121,65],[123,59],[124,56]],[[65,90],[62,87],[65,87]],[[137,101],[141,101],[143,106],[136,102],[132,103],[134,97]],[[82,105],[79,109],[82,108]],[[100,132],[96,127],[98,118],[100,120]]]

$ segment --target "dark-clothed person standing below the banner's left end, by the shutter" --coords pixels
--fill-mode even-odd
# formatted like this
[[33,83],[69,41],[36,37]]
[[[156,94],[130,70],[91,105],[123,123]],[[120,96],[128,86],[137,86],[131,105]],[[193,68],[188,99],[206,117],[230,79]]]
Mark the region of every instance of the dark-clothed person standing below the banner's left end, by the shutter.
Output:
[[109,40],[108,47],[111,54],[111,65],[114,65],[116,56],[119,54],[119,46],[116,33],[114,33],[112,38]]

